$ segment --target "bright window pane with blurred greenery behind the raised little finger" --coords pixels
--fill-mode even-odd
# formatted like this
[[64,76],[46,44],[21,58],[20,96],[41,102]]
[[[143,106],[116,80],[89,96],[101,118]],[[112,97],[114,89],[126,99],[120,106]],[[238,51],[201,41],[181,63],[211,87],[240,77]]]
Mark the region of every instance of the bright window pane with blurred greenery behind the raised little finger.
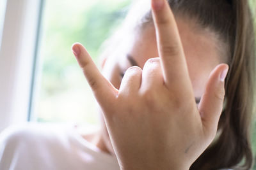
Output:
[[99,46],[124,19],[130,1],[45,1],[34,107],[38,122],[99,123],[95,99],[71,45],[83,43],[97,61]]

